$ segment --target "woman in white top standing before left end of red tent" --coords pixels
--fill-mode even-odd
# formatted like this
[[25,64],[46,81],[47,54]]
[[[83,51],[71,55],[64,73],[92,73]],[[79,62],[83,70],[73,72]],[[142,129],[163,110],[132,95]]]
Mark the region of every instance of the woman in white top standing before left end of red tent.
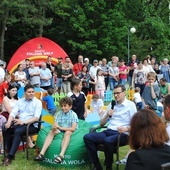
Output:
[[23,65],[18,65],[18,71],[15,72],[15,81],[17,81],[21,87],[25,87],[27,83],[26,73],[23,71]]

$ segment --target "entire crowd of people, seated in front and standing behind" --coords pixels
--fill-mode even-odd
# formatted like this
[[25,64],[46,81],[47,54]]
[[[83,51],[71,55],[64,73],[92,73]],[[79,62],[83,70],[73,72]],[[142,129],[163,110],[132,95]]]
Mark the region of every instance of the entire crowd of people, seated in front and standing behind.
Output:
[[[136,155],[147,155],[148,148],[153,153],[159,152],[159,149],[162,153],[166,149],[167,157],[160,158],[157,156],[159,154],[155,157],[155,160],[159,159],[155,165],[155,170],[157,170],[162,163],[170,161],[170,147],[165,145],[169,139],[167,134],[169,128],[166,131],[165,126],[157,116],[159,112],[158,101],[160,101],[164,104],[165,119],[170,121],[168,117],[170,114],[168,102],[170,65],[168,62],[168,59],[164,58],[159,64],[155,57],[151,58],[150,56],[147,56],[143,61],[138,61],[137,56],[132,55],[131,61],[127,64],[117,56],[112,56],[109,62],[106,58],[103,58],[101,62],[94,59],[93,64],[90,64],[89,58],[83,59],[83,56],[79,55],[78,62],[75,64],[72,64],[70,58],[66,57],[65,61],[63,58],[59,58],[57,65],[54,65],[51,56],[48,56],[47,61],[42,62],[40,66],[37,66],[34,61],[26,59],[18,65],[17,70],[12,75],[9,75],[5,68],[6,63],[1,61],[0,70],[3,70],[0,72],[1,116],[7,121],[4,138],[5,141],[8,141],[5,146],[8,155],[3,160],[2,165],[11,164],[21,136],[25,133],[26,125],[39,119],[42,103],[35,98],[34,87],[41,87],[48,92],[48,96],[41,96],[40,99],[46,101],[47,109],[53,116],[56,114],[57,108],[54,105],[52,94],[55,90],[59,94],[63,91],[67,97],[60,100],[61,110],[56,114],[55,123],[39,155],[34,159],[35,161],[44,160],[44,154],[54,136],[58,133],[64,133],[61,152],[54,158],[56,164],[63,161],[71,134],[78,128],[78,119],[85,120],[87,117],[86,97],[88,93],[92,93],[94,95],[91,106],[100,114],[100,125],[103,126],[109,122],[107,130],[84,136],[84,143],[89,159],[94,164],[94,169],[103,169],[96,149],[96,145],[103,144],[105,146],[106,169],[112,170],[113,151],[114,147],[117,146],[117,137],[121,133],[120,146],[127,145],[129,138],[131,149],[136,150],[135,152],[131,150],[131,153],[128,154],[126,169],[134,167],[140,169],[142,166],[149,169],[150,162],[136,160],[138,159]],[[127,85],[135,89],[134,102],[126,98]],[[20,87],[24,87],[25,96],[18,99],[17,90]],[[107,89],[113,91],[114,102],[112,101],[107,106],[106,111],[102,112],[104,92]],[[63,117],[64,122],[61,122],[61,117]],[[66,121],[68,118],[69,121]],[[143,121],[140,122],[140,120]],[[136,125],[139,127],[135,127]],[[150,134],[148,134],[147,127],[146,129],[142,128],[145,126],[152,130]],[[155,131],[152,126],[155,128],[157,126],[159,130]],[[162,133],[159,134],[160,130]],[[36,132],[36,125],[32,125],[30,131]],[[158,134],[155,134],[156,132]],[[15,134],[13,140],[9,140],[11,134]],[[143,139],[144,136],[146,136],[146,140]],[[3,152],[1,150],[1,153]]]

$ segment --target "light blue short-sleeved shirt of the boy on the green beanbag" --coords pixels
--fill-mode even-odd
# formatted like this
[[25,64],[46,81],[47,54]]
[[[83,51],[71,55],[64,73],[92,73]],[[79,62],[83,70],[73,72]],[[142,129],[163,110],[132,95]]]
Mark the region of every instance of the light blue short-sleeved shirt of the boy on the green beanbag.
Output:
[[57,113],[55,122],[61,127],[70,128],[72,127],[73,123],[78,123],[78,117],[77,114],[72,110],[69,110],[67,113],[64,113],[61,110]]

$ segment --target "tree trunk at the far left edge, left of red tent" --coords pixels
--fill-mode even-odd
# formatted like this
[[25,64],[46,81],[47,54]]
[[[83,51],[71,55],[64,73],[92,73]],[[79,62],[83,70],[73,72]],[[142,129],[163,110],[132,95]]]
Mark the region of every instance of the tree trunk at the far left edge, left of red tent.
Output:
[[7,21],[8,15],[9,15],[9,10],[7,9],[4,12],[2,25],[1,25],[1,28],[2,28],[1,36],[0,36],[0,59],[1,60],[4,60],[4,40],[5,40],[5,31],[7,29],[6,21]]

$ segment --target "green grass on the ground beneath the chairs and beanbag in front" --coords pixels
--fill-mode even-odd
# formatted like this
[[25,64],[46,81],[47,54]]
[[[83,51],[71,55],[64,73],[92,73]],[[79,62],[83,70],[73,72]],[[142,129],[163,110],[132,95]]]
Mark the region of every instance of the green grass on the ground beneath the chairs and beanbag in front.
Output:
[[[124,146],[120,148],[120,159],[123,158],[129,147]],[[76,154],[76,153],[75,153]],[[52,169],[57,169],[57,170],[90,170],[90,165],[82,165],[74,168],[66,167],[66,168],[61,168],[61,167],[50,167],[50,166],[42,166],[39,163],[33,161],[34,157],[36,155],[35,149],[29,149],[29,160],[26,160],[26,153],[23,151],[18,151],[16,153],[15,160],[12,162],[11,165],[8,167],[1,167],[1,170],[52,170]],[[104,163],[104,154],[101,152],[99,154],[100,156],[100,162],[103,165]],[[3,157],[2,157],[3,159]],[[116,159],[116,158],[115,158]],[[104,168],[104,165],[103,165]],[[115,169],[115,163],[113,168]],[[120,165],[120,170],[124,170],[125,166]],[[105,169],[105,168],[104,168]]]

